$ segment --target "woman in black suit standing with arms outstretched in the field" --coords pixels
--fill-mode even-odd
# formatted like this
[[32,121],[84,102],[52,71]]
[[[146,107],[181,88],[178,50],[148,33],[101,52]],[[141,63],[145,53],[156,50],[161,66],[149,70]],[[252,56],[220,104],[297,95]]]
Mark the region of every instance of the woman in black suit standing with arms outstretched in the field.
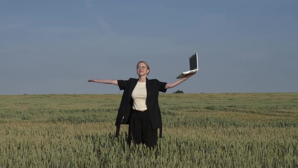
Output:
[[157,144],[157,129],[162,137],[162,118],[158,104],[159,92],[166,92],[195,73],[181,78],[173,83],[161,82],[157,79],[147,79],[150,67],[145,61],[137,63],[138,78],[128,80],[92,79],[89,82],[107,83],[119,86],[124,90],[116,119],[116,137],[119,135],[120,124],[129,124],[128,143],[143,143],[154,148]]

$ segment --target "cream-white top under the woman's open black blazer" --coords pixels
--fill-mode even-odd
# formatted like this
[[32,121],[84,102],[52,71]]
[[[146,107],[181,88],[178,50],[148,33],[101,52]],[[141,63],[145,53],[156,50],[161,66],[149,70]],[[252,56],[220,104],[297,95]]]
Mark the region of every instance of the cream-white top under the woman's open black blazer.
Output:
[[133,100],[132,109],[139,111],[146,110],[146,82],[137,82],[134,90],[132,91],[131,97]]

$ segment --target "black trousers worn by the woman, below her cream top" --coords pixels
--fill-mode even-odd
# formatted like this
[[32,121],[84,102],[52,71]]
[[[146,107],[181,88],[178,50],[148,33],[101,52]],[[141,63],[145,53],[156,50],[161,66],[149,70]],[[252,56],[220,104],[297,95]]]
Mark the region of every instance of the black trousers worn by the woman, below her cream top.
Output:
[[154,148],[157,144],[157,130],[152,129],[152,123],[147,110],[132,110],[129,118],[128,143],[145,144]]

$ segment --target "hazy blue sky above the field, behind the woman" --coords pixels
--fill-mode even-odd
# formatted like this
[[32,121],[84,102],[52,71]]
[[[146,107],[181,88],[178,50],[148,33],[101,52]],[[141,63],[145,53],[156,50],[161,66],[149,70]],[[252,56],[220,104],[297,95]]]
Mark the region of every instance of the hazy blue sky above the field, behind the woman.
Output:
[[168,93],[298,92],[298,1],[0,0],[0,95],[117,94],[88,79],[173,82]]

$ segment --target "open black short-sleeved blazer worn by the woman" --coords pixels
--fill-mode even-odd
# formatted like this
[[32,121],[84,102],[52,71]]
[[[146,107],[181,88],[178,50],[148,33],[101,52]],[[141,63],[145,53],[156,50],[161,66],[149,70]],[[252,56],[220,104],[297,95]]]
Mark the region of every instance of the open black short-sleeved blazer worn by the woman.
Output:
[[[132,109],[132,100],[131,94],[136,86],[138,79],[130,78],[128,80],[118,80],[118,86],[120,90],[124,90],[120,107],[118,110],[118,115],[116,118],[115,125],[117,126],[116,130],[116,137],[119,135],[120,124],[128,124],[129,115]],[[165,89],[167,83],[160,82],[157,79],[147,79],[146,78],[146,90],[147,90],[147,97],[146,97],[146,105],[147,110],[150,116],[150,120],[152,123],[152,129],[156,130],[162,128],[162,117],[158,103],[158,96],[159,92],[166,92]],[[160,130],[161,136],[161,130]]]

